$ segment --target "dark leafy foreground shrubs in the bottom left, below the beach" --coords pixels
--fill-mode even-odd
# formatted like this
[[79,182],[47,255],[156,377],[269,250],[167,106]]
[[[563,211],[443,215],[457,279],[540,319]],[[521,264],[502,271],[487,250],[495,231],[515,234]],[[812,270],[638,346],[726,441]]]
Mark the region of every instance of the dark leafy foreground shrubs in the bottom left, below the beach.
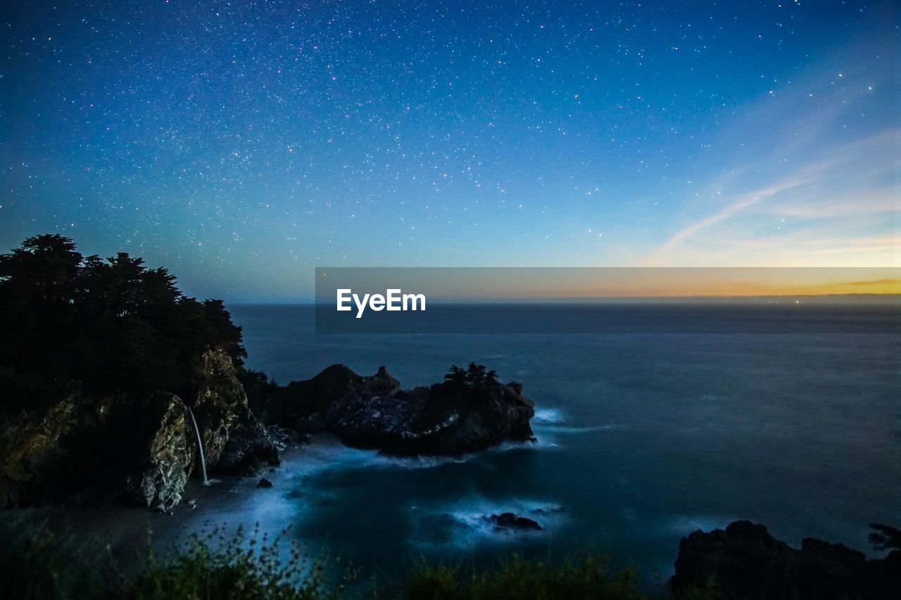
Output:
[[167,559],[149,545],[131,576],[118,568],[108,547],[79,544],[44,522],[5,519],[0,531],[3,596],[21,600],[331,600],[345,597],[354,579],[349,568],[341,577],[330,575],[324,553],[309,557],[292,543],[285,554],[281,536],[268,541],[255,531],[248,540],[241,528],[231,536],[220,529],[195,534]]

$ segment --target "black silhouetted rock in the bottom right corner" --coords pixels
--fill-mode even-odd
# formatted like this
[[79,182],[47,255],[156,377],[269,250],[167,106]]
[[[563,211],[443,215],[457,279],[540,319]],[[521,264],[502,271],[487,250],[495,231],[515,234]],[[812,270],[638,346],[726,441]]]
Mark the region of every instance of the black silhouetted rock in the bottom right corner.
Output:
[[727,600],[901,597],[901,550],[868,560],[862,552],[813,538],[796,550],[748,521],[683,538],[675,567],[669,580],[674,592],[714,577]]

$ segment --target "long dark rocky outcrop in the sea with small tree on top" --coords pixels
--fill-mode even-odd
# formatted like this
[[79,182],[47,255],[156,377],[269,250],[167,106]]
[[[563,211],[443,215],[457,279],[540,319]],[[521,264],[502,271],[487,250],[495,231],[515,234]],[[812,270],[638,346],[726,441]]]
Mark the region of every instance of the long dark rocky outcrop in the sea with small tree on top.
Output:
[[522,385],[486,379],[401,389],[382,367],[360,377],[343,365],[282,388],[268,415],[301,432],[330,432],[359,448],[396,455],[454,455],[532,440],[532,400]]

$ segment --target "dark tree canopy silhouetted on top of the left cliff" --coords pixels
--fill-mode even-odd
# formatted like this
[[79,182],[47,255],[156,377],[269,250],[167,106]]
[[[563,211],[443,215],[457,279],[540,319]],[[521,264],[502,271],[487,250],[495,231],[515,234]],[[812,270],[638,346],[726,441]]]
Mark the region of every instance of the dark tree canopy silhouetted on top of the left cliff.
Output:
[[206,349],[240,366],[241,328],[222,301],[198,302],[175,282],[125,252],[85,258],[60,235],[0,255],[2,408],[35,407],[79,387],[179,393]]

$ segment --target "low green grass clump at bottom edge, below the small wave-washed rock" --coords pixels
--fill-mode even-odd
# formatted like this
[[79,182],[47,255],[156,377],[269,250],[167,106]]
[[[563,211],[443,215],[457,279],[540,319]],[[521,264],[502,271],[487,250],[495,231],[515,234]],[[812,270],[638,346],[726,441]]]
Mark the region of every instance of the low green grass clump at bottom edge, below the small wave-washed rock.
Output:
[[514,554],[496,568],[481,570],[421,564],[401,595],[405,600],[506,600],[642,598],[633,568],[611,575],[603,555],[587,554],[558,566]]

